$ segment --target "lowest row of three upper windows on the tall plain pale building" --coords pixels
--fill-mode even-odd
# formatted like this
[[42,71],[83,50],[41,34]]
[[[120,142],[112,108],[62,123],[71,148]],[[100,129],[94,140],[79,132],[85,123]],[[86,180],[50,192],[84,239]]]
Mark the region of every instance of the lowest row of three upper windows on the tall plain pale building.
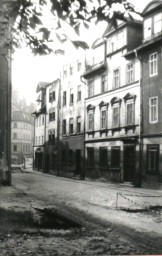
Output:
[[[78,116],[76,119],[76,132],[81,133],[81,117]],[[69,134],[74,134],[74,118],[69,119]],[[67,134],[67,123],[66,119],[63,119],[62,121],[62,135]]]

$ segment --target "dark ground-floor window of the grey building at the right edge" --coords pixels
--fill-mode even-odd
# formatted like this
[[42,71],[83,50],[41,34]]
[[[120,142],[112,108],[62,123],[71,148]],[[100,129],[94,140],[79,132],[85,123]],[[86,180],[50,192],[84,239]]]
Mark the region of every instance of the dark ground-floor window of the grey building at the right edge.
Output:
[[147,145],[147,171],[157,172],[159,145]]

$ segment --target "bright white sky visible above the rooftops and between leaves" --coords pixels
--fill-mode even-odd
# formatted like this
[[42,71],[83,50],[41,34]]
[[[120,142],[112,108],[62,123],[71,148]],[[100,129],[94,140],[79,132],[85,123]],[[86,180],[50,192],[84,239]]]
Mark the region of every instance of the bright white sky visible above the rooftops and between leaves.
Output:
[[[142,11],[150,0],[129,0],[135,7]],[[102,24],[98,26],[98,31],[104,32]],[[96,27],[91,33],[86,32],[91,41],[96,35]],[[94,40],[96,38],[94,37]],[[50,56],[33,56],[30,49],[17,49],[12,61],[12,86],[19,91],[19,96],[25,98],[27,103],[35,102],[36,87],[39,81],[52,82],[57,78],[58,70],[62,58],[52,54]]]

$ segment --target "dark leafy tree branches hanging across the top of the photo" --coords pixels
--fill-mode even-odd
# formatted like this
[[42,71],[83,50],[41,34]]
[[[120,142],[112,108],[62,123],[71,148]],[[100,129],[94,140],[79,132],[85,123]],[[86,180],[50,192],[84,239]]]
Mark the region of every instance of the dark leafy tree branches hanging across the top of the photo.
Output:
[[[15,49],[25,42],[35,54],[53,51],[54,38],[62,37],[62,22],[79,34],[81,25],[88,29],[92,21],[106,21],[116,27],[118,18],[126,20],[135,12],[127,0],[0,0],[0,6],[0,45]],[[64,35],[63,41],[67,39]]]

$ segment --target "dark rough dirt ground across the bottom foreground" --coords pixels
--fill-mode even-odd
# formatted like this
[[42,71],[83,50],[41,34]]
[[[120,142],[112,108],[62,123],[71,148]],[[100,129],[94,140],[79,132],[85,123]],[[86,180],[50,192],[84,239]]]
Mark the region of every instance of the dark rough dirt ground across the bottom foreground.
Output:
[[145,245],[134,244],[112,226],[89,224],[74,227],[66,221],[53,222],[53,213],[48,219],[49,215],[46,215],[46,211],[43,216],[48,219],[48,225],[43,219],[43,222],[36,222],[33,211],[0,208],[0,216],[0,254],[2,256],[159,253],[159,249],[153,245],[148,248]]

